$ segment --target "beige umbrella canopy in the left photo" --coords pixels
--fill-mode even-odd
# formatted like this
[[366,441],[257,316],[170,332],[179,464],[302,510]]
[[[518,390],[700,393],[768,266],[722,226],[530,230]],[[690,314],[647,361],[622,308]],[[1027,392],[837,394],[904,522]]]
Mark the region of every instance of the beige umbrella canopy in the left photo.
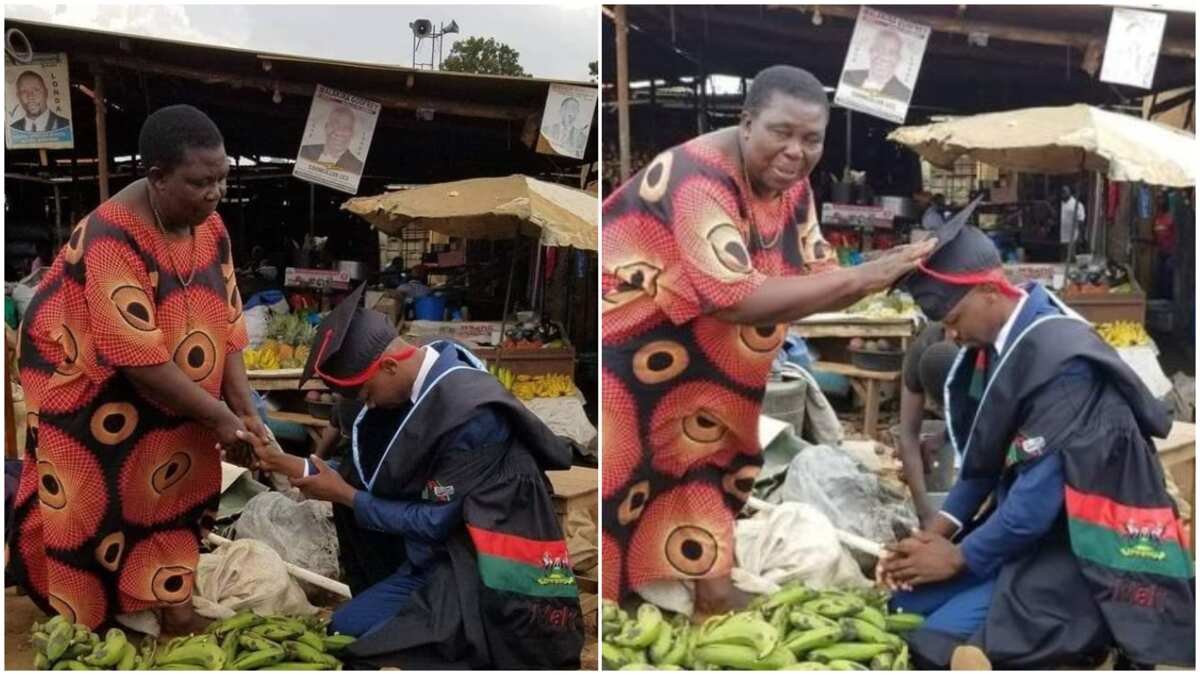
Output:
[[473,178],[355,197],[342,208],[389,234],[410,223],[469,239],[511,239],[596,250],[595,195],[527,175]]

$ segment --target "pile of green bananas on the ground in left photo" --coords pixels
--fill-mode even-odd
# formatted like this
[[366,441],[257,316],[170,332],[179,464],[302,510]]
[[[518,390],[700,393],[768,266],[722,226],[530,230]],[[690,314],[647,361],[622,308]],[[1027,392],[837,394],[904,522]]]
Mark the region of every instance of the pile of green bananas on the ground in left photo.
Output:
[[55,616],[34,625],[31,643],[38,670],[341,670],[334,655],[354,638],[330,635],[325,628],[320,620],[242,611],[202,635],[162,645],[146,638],[138,649],[120,628],[109,629],[102,641],[86,626]]

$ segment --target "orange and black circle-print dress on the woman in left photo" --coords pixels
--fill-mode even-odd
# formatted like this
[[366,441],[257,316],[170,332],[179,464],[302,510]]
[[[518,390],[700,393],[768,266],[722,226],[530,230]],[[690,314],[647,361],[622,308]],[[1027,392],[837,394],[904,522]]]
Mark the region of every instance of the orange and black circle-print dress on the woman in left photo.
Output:
[[246,345],[241,298],[221,219],[194,237],[196,269],[176,269],[190,241],[107,203],[72,232],[22,323],[29,431],[8,573],[46,611],[92,628],[187,602],[211,526],[216,438],[120,374],[173,363],[220,395],[227,354]]

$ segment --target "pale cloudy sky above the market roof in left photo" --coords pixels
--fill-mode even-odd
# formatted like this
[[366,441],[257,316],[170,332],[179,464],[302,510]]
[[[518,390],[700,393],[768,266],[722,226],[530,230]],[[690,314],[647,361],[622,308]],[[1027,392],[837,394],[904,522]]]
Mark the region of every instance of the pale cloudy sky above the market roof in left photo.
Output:
[[[302,56],[410,66],[408,24],[458,23],[455,40],[494,37],[534,77],[588,79],[598,59],[598,4],[550,5],[6,5],[6,18],[132,32]],[[331,30],[332,29],[332,30]],[[35,49],[37,46],[34,46]],[[427,61],[430,41],[418,60]]]

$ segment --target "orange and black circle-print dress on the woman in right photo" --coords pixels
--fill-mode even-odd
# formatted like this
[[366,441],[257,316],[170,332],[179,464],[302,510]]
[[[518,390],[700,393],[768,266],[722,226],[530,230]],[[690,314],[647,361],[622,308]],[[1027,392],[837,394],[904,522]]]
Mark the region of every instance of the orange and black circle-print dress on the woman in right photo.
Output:
[[808,181],[748,199],[700,138],[604,204],[604,592],[727,575],[762,465],[758,413],[786,325],[715,318],[768,276],[835,265]]

